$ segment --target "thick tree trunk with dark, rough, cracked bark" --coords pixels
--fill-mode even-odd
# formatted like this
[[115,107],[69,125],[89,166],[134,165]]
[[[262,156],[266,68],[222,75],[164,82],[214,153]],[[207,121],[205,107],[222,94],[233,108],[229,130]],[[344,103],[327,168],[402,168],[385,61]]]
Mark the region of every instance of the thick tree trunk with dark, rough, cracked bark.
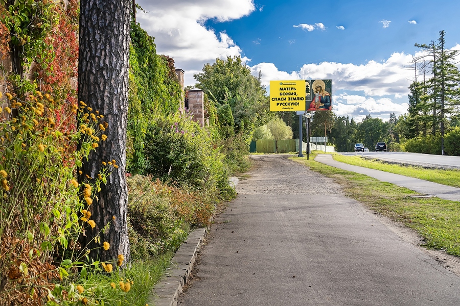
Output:
[[[89,207],[95,228],[86,226],[82,246],[91,249],[90,258],[117,261],[123,254],[129,262],[126,186],[126,124],[128,113],[128,56],[131,0],[81,0],[78,64],[78,99],[104,115],[108,128],[88,161],[83,161],[83,175],[97,177],[102,162],[116,160],[118,169],[107,177]],[[114,217],[114,219],[113,219]],[[105,233],[104,226],[110,222]],[[94,237],[100,236],[100,242]],[[105,251],[102,243],[110,248]]]

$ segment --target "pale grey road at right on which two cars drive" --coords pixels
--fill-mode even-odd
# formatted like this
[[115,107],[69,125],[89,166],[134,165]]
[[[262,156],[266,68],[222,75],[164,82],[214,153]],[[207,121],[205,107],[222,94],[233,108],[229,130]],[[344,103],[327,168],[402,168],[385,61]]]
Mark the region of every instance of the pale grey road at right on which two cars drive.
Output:
[[460,156],[430,155],[409,152],[341,152],[348,156],[367,156],[390,162],[418,164],[428,167],[456,168],[460,169]]

